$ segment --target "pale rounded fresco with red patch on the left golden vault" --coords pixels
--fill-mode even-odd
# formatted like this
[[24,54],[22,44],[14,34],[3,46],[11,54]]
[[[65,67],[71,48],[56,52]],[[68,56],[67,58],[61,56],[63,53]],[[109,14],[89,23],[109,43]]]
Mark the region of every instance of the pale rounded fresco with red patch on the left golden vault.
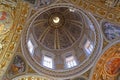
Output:
[[12,25],[13,20],[9,13],[5,11],[0,11],[0,34],[8,32]]

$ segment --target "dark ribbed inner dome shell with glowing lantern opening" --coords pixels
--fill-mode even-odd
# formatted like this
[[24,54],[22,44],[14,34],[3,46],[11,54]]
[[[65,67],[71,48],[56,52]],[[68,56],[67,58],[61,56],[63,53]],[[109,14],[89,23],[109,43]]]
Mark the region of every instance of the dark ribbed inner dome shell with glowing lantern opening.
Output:
[[81,37],[82,16],[73,8],[49,9],[33,21],[32,31],[37,43],[49,50],[70,48]]

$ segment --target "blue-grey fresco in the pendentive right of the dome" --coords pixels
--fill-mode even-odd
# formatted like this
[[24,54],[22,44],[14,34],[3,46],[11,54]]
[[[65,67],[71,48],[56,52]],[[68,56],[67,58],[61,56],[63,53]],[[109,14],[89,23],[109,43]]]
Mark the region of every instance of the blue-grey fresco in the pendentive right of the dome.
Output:
[[113,40],[120,37],[120,26],[105,22],[103,23],[103,33],[108,40]]

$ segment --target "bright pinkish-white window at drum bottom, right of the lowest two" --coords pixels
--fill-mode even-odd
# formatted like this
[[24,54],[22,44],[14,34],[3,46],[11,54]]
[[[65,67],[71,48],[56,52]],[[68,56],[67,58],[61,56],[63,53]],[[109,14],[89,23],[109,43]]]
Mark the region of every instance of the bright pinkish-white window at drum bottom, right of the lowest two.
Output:
[[66,57],[66,60],[65,60],[65,61],[66,61],[67,68],[72,68],[72,67],[74,67],[74,66],[77,65],[74,56]]

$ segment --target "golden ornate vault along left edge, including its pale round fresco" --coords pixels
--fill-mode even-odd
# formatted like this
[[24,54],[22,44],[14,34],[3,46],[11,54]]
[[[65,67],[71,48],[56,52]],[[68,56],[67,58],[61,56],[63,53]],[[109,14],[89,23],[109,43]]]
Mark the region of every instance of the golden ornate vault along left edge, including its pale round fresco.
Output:
[[[18,3],[15,0],[0,1],[0,80],[6,72],[10,61],[12,60],[15,47],[18,44],[19,37],[27,18],[29,6],[21,0]],[[24,14],[22,10],[24,10]],[[21,17],[22,15],[22,17]]]

